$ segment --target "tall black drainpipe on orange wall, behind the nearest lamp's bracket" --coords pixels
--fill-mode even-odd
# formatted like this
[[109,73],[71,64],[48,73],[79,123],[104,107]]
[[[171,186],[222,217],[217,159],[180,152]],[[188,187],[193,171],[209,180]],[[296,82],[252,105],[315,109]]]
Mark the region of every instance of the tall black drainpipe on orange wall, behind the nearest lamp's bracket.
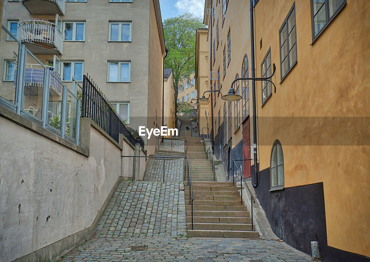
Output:
[[[250,0],[250,51],[251,51],[251,69],[252,77],[255,76],[255,53],[254,53],[254,26],[253,26],[253,0]],[[253,162],[255,168],[254,188],[258,186],[258,169],[257,169],[257,116],[256,116],[256,84],[252,80],[252,106],[253,106]]]

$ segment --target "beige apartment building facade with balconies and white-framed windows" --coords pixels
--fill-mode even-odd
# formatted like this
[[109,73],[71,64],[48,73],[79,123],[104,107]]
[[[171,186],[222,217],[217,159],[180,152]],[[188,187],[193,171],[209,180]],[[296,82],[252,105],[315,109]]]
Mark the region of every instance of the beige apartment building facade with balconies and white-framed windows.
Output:
[[[161,126],[165,42],[158,0],[70,0],[59,1],[60,6],[43,1],[41,7],[36,2],[24,1],[23,7],[4,1],[3,25],[41,63],[54,67],[68,88],[72,78],[81,84],[83,75],[90,75],[132,129]],[[99,16],[92,15],[97,10]],[[17,47],[15,41],[5,43],[1,85],[11,86]],[[36,63],[31,60],[26,64]],[[154,153],[155,141],[144,141],[148,153]]]

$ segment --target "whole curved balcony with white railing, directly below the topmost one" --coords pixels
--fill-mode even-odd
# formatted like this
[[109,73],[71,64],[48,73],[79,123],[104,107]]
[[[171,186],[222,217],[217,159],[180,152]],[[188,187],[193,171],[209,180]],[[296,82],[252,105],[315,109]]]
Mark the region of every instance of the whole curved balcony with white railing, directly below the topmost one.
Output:
[[61,55],[63,36],[50,22],[27,20],[19,23],[18,39],[35,55]]

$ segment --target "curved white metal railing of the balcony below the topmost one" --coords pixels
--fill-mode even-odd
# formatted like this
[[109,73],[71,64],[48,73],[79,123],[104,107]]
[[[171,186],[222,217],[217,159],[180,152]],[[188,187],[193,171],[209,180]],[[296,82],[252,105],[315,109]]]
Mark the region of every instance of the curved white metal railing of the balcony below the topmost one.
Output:
[[53,23],[40,20],[23,21],[18,25],[17,35],[22,43],[43,43],[54,47],[60,54],[63,53],[63,35]]

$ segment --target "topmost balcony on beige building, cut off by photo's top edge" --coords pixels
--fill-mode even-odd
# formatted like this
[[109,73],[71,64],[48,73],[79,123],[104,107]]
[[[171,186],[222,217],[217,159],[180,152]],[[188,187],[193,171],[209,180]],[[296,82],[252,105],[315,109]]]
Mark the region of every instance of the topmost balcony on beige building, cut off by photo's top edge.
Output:
[[31,15],[64,16],[65,13],[65,0],[20,0],[20,3]]

